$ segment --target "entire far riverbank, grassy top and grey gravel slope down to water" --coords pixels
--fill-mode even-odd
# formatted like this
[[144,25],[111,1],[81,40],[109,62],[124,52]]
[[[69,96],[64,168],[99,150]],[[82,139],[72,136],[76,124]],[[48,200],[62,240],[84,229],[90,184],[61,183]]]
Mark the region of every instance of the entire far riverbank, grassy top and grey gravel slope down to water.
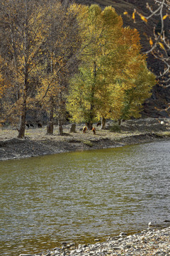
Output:
[[120,130],[113,122],[107,129],[96,127],[96,134],[87,131],[83,134],[84,124],[77,125],[71,133],[71,124],[64,126],[64,135],[46,135],[46,127],[26,129],[26,138],[17,139],[17,131],[12,128],[0,130],[0,160],[20,159],[31,156],[57,154],[68,151],[104,149],[130,144],[140,144],[170,139],[169,119],[137,119],[123,122]]

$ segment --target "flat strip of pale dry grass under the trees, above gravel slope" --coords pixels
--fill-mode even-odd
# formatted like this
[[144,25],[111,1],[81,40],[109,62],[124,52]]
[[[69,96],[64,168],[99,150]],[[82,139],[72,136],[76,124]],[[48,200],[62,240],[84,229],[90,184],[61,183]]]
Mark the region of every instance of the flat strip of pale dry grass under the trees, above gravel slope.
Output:
[[[72,124],[67,124],[63,126],[64,135],[59,135],[58,126],[54,127],[54,134],[47,135],[47,127],[43,126],[42,128],[27,128],[26,127],[26,139],[33,140],[43,140],[43,139],[51,139],[52,141],[70,141],[72,139],[81,140],[81,141],[96,141],[99,139],[111,139],[111,140],[119,140],[124,137],[130,137],[132,135],[139,134],[147,134],[147,133],[157,133],[160,136],[170,136],[170,122],[169,119],[164,120],[164,125],[159,124],[157,119],[137,119],[125,122],[122,126],[124,129],[120,132],[114,132],[115,124],[113,122],[109,122],[110,129],[113,130],[111,132],[109,129],[101,130],[100,127],[96,127],[96,135],[93,134],[92,131],[86,131],[86,134],[83,134],[82,128],[84,124],[77,124],[76,132],[71,133],[70,128]],[[13,127],[6,127],[0,129],[0,140],[13,139],[18,136],[18,131]]]

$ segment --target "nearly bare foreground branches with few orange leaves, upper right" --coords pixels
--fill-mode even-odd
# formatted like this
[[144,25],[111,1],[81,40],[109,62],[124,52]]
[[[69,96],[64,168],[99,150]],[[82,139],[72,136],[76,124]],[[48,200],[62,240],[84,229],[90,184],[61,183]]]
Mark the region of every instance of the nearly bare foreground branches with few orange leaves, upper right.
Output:
[[164,87],[170,86],[170,31],[168,27],[170,18],[170,1],[169,0],[153,0],[153,4],[147,3],[149,14],[147,16],[139,13],[136,9],[133,12],[132,18],[135,19],[135,14],[140,16],[143,22],[149,23],[149,20],[157,18],[157,25],[153,27],[152,36],[149,40],[149,50],[145,54],[151,53],[154,58],[159,60],[164,67],[157,75],[157,78]]

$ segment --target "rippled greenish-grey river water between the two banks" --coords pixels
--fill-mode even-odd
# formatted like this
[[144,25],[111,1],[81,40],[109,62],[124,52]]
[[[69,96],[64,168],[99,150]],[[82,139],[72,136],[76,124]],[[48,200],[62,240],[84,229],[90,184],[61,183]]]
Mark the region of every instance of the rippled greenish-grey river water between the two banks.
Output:
[[0,255],[170,220],[170,142],[0,162]]

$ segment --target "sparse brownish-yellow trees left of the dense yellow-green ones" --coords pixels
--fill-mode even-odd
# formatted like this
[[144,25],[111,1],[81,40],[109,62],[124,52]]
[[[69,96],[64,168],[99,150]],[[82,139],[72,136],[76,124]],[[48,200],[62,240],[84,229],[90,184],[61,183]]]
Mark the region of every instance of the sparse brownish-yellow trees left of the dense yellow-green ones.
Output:
[[64,92],[80,44],[77,18],[72,7],[53,0],[3,0],[0,14],[1,105],[22,138],[27,110],[37,102],[49,112],[50,122],[57,107],[59,117],[64,112]]

